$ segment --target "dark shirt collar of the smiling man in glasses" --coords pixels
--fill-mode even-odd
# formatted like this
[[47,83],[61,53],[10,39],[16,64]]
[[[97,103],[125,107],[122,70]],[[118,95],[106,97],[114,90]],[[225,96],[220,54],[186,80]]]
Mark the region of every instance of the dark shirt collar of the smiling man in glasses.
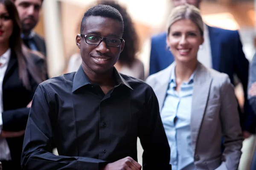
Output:
[[[119,74],[119,72],[116,70],[116,68],[114,67],[113,69],[114,69],[113,70],[113,76],[114,76],[114,79],[116,80],[116,85],[123,84],[123,85],[127,86],[128,88],[131,88],[131,86]],[[88,85],[88,84],[92,84],[92,83],[87,78],[86,74],[84,73],[84,70],[83,70],[82,66],[80,66],[78,71],[76,72],[76,74],[74,76],[72,92],[74,92],[77,89],[79,89],[79,88],[81,88],[85,85]],[[131,88],[131,90],[133,90],[133,89]]]

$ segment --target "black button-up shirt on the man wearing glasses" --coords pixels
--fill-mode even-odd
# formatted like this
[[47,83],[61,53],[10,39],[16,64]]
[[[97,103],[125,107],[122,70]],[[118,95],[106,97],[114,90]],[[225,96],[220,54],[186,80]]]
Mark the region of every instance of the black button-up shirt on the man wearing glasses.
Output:
[[[137,161],[137,137],[143,146],[143,170],[170,170],[170,148],[157,97],[138,79],[114,68],[115,87],[104,94],[80,67],[38,86],[26,127],[22,167],[97,170],[126,156]],[[52,145],[59,156],[50,153]]]

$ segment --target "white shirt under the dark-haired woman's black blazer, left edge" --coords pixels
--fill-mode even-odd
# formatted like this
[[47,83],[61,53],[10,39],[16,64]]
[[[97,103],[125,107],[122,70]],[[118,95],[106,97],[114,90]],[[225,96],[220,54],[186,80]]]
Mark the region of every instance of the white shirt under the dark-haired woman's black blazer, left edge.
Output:
[[[1,57],[0,57],[0,134],[3,126],[2,112],[3,112],[3,78],[11,57],[11,49],[9,48]],[[8,146],[8,143],[5,138],[0,138],[0,160],[9,161],[11,160],[11,153]]]

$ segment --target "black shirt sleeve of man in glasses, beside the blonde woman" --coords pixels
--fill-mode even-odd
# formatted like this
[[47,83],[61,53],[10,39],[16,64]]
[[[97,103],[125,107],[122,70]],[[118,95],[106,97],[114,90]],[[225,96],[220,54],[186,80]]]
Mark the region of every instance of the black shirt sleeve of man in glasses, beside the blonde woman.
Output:
[[150,87],[139,138],[143,147],[143,170],[171,170],[170,147],[160,117],[157,96]]

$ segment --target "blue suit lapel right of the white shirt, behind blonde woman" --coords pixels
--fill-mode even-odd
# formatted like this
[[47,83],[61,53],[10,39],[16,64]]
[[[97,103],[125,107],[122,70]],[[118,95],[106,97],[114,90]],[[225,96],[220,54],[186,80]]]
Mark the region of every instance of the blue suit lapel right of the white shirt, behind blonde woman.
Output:
[[219,33],[216,31],[217,28],[207,26],[209,30],[209,39],[211,45],[211,53],[212,53],[212,68],[214,70],[219,70],[219,62],[220,62],[220,51],[221,51],[221,43],[219,40]]

